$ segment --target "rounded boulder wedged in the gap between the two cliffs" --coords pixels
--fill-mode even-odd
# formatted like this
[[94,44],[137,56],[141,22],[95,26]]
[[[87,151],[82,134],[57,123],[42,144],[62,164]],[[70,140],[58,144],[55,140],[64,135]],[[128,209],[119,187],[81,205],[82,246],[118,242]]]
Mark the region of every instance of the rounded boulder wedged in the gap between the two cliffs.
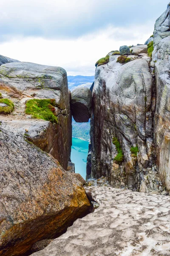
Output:
[[91,116],[91,90],[76,88],[71,92],[71,111],[76,122],[88,122]]

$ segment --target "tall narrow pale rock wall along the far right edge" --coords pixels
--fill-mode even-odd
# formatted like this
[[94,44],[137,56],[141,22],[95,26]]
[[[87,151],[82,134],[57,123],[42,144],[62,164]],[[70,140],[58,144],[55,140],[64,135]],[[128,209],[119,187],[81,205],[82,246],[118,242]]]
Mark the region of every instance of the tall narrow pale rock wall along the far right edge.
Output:
[[153,33],[156,77],[154,143],[157,169],[170,191],[170,5],[156,20]]

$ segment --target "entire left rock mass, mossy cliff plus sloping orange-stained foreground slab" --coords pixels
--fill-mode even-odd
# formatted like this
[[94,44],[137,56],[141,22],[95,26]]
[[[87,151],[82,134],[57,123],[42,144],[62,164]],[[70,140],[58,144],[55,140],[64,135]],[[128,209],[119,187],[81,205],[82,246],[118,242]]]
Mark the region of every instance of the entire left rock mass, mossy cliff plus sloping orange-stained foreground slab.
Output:
[[82,183],[65,171],[71,133],[65,70],[0,66],[0,255],[29,255],[89,212]]

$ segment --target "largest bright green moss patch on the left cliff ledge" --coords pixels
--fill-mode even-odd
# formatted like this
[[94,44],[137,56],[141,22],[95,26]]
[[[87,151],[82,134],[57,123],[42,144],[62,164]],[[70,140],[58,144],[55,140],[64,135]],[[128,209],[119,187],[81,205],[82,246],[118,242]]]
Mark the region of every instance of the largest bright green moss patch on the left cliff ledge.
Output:
[[30,99],[26,102],[26,114],[33,118],[57,123],[54,106],[55,99]]

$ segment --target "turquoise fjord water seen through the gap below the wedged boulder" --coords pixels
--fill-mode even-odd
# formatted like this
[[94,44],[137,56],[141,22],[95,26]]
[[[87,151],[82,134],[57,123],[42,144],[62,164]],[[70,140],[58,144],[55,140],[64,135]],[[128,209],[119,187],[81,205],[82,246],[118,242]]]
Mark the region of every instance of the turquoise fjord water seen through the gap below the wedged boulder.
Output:
[[88,141],[72,138],[71,162],[75,163],[75,172],[86,177],[86,162],[88,156]]

